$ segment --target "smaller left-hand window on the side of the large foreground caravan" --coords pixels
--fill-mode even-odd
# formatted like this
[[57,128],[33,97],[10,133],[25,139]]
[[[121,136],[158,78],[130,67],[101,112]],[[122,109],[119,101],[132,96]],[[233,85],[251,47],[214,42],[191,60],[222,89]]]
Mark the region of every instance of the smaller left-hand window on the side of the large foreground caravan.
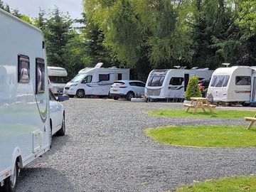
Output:
[[18,55],[18,82],[29,82],[30,66],[26,55]]

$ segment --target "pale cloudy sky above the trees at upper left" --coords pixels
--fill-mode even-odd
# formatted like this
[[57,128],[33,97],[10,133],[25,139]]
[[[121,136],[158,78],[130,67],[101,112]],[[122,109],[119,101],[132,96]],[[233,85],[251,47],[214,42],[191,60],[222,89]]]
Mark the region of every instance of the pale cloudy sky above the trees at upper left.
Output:
[[38,17],[39,8],[48,13],[58,6],[64,14],[68,12],[71,18],[81,18],[82,0],[3,0],[11,9],[18,9],[21,14]]

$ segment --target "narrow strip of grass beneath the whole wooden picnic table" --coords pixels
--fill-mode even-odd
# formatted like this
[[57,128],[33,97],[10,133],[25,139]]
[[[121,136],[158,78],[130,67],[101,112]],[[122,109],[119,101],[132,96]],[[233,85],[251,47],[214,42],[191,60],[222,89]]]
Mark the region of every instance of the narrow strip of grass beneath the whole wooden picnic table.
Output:
[[210,114],[209,110],[206,109],[206,112],[198,109],[196,114],[192,114],[193,110],[186,112],[186,109],[182,110],[154,110],[147,112],[147,114],[161,116],[161,117],[206,117],[206,118],[243,118],[243,117],[253,117],[255,112],[250,111],[238,111],[238,110],[213,110],[214,114]]

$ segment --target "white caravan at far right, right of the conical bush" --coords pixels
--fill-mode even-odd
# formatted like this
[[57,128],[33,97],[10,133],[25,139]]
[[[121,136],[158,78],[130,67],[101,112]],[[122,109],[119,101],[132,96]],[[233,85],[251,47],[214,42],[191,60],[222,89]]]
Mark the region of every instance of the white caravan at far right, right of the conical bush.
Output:
[[248,105],[256,102],[256,67],[233,66],[213,72],[207,97],[213,102],[233,102]]

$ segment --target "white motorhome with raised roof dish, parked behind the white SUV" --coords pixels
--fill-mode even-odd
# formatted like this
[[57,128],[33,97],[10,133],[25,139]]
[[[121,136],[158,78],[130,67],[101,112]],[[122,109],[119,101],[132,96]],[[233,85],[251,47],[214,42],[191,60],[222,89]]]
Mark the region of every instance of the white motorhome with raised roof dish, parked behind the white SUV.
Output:
[[78,75],[65,85],[64,94],[78,98],[85,95],[109,95],[114,81],[129,80],[129,69],[101,68],[102,65],[103,63],[97,63],[95,68],[80,70]]

